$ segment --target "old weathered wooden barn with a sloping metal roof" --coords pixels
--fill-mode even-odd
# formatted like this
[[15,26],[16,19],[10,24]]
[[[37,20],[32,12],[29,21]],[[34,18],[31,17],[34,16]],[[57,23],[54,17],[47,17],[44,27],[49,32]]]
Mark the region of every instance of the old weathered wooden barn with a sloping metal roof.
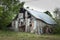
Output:
[[56,22],[47,14],[32,9],[21,8],[12,21],[12,29],[20,32],[43,33],[43,28],[52,27]]

